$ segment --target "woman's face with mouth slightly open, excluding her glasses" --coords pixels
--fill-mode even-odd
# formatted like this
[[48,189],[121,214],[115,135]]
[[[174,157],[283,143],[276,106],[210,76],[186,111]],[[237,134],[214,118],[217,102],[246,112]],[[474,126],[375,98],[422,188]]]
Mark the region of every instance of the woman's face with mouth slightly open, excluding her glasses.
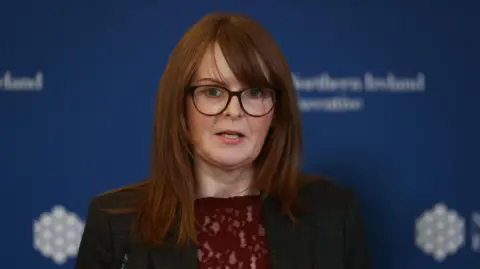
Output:
[[[204,55],[192,85],[216,85],[233,92],[245,88],[217,45],[213,53],[208,51]],[[217,95],[218,91],[209,87],[207,94]],[[262,150],[273,114],[272,109],[262,117],[250,116],[243,111],[238,98],[232,97],[221,114],[206,116],[195,108],[191,97],[187,98],[187,120],[196,158],[225,169],[251,164]]]

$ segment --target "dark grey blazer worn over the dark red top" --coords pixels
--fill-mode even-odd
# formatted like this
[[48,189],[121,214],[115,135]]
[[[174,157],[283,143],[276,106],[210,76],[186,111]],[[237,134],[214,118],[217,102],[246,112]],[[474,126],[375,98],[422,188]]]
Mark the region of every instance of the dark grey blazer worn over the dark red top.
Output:
[[[75,269],[198,267],[194,244],[175,248],[173,237],[161,247],[135,243],[130,237],[133,216],[111,215],[102,210],[123,205],[138,195],[134,191],[122,191],[91,200]],[[297,214],[299,223],[295,227],[288,217],[280,214],[276,197],[264,201],[263,222],[273,269],[372,268],[362,221],[351,191],[320,180],[302,187],[300,199],[311,210]]]

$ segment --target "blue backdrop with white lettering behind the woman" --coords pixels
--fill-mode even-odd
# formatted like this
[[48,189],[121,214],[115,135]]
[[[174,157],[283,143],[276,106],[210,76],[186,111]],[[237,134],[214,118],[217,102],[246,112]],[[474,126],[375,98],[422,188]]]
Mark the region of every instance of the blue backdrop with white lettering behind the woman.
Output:
[[[334,2],[3,1],[0,267],[73,267],[89,199],[147,175],[170,51],[206,12],[227,10],[282,47],[304,170],[356,189],[376,268],[480,268],[479,5]],[[456,254],[441,255],[444,239]]]

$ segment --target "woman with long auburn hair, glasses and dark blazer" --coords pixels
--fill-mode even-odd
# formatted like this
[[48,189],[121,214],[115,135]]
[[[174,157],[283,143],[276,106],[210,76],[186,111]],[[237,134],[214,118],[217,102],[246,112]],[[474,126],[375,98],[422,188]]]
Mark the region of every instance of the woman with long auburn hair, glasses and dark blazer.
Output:
[[161,78],[149,178],[92,199],[75,268],[371,268],[352,194],[300,155],[280,48],[247,16],[205,16]]

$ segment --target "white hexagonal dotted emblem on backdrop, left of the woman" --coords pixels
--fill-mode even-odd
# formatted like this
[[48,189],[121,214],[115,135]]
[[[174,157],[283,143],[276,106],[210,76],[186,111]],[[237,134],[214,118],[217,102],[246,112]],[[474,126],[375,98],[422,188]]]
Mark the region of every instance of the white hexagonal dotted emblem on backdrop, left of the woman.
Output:
[[56,264],[77,255],[84,223],[75,214],[57,205],[33,222],[33,247]]

